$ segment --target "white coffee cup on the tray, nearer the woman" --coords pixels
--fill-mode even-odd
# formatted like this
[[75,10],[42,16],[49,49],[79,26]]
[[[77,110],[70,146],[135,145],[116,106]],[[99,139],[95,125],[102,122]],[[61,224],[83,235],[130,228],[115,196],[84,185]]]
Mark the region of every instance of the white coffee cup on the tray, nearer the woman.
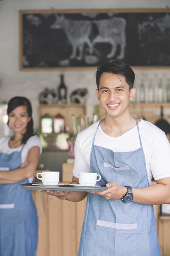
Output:
[[[38,175],[41,175],[41,177],[38,177]],[[42,180],[43,185],[58,185],[59,172],[39,172],[37,178]]]

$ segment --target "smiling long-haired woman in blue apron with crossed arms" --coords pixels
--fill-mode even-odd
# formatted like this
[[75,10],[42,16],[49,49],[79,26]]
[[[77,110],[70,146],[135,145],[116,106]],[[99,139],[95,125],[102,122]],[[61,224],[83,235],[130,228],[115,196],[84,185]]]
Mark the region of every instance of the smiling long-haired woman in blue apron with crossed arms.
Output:
[[18,185],[32,182],[42,147],[27,98],[10,99],[7,113],[14,135],[0,139],[0,255],[36,256],[37,210],[30,191]]

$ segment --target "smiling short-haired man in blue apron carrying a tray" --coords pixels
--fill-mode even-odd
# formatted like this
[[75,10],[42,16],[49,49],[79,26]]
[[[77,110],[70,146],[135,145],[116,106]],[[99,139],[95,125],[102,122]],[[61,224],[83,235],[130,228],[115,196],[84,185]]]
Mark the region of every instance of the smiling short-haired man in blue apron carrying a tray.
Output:
[[170,204],[170,145],[163,131],[130,114],[134,80],[121,61],[98,67],[96,95],[105,119],[77,135],[73,183],[79,172],[97,172],[98,185],[108,189],[46,192],[74,202],[88,194],[79,256],[160,256],[153,204]]

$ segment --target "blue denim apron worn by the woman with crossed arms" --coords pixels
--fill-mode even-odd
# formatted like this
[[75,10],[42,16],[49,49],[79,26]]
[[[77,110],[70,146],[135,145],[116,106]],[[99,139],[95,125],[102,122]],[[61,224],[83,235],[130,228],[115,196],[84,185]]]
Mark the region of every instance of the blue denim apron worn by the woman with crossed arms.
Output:
[[[22,165],[21,151],[0,153],[0,168],[17,169]],[[36,256],[38,217],[30,190],[14,184],[0,184],[0,256]]]

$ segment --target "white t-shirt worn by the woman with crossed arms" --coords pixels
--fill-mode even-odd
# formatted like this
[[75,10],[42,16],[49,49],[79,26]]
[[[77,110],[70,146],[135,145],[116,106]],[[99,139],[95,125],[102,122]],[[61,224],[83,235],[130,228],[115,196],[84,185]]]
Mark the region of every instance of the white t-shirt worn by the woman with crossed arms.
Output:
[[[30,148],[32,148],[34,146],[38,146],[40,148],[40,154],[42,153],[41,142],[40,142],[40,139],[37,135],[31,136],[24,146],[21,145],[18,148],[9,148],[9,146],[8,146],[9,139],[10,139],[10,137],[0,138],[0,153],[12,154],[15,151],[21,151],[21,149],[23,147],[23,150],[21,152],[22,164],[26,162],[26,159],[27,159],[27,156],[28,156],[28,151],[30,150]],[[33,179],[34,179],[34,177],[31,177],[28,180],[31,183]]]

